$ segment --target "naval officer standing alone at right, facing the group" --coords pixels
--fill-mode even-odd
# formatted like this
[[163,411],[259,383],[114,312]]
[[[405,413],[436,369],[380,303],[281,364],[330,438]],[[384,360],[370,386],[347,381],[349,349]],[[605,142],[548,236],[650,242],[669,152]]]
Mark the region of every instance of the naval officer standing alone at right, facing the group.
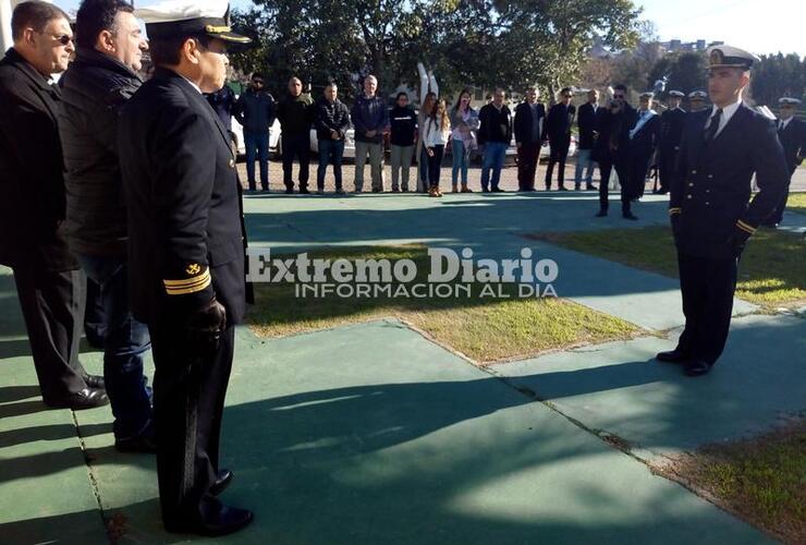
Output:
[[[674,350],[657,355],[685,364],[688,376],[705,375],[722,354],[738,259],[781,202],[789,174],[774,123],[742,104],[757,59],[730,46],[708,56],[713,106],[686,120],[669,201],[685,329]],[[759,192],[750,202],[754,173]]]

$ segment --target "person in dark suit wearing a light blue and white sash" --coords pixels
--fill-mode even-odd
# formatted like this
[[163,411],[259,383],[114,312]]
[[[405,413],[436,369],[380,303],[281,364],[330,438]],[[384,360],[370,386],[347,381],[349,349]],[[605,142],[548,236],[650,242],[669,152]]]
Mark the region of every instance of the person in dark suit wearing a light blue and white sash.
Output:
[[[652,94],[644,93],[638,102],[635,124],[630,130],[627,147],[627,189],[626,199],[622,199],[622,217],[636,220],[631,210],[631,202],[644,196],[649,164],[660,142],[660,116],[652,110]],[[622,185],[624,183],[622,182]]]

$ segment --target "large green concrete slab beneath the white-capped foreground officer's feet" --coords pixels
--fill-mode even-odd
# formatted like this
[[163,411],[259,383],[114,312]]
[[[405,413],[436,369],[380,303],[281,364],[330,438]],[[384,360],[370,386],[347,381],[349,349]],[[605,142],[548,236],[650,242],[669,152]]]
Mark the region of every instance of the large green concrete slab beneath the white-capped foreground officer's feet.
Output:
[[[237,335],[224,500],[256,522],[228,543],[764,543],[546,405],[398,322]],[[97,413],[78,414],[82,427]],[[89,437],[121,543],[159,528],[152,459]]]

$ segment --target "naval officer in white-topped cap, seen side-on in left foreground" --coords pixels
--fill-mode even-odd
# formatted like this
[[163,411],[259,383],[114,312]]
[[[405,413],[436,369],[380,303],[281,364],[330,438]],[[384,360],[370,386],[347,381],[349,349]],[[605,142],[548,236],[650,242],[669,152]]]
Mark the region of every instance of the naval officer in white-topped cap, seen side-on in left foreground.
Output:
[[157,473],[168,531],[224,535],[252,512],[216,498],[219,433],[234,329],[245,311],[241,191],[230,136],[203,93],[224,85],[223,0],[139,7],[154,77],[123,107],[120,162],[129,206],[134,315],[148,324],[156,375]]

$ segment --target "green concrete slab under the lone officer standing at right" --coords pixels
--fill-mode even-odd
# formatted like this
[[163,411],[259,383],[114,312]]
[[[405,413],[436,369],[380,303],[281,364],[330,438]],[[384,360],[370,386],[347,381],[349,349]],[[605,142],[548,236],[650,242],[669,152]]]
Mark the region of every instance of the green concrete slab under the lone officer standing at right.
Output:
[[654,360],[676,338],[612,342],[494,372],[649,459],[755,435],[806,410],[806,320],[734,319],[718,365],[696,379]]

